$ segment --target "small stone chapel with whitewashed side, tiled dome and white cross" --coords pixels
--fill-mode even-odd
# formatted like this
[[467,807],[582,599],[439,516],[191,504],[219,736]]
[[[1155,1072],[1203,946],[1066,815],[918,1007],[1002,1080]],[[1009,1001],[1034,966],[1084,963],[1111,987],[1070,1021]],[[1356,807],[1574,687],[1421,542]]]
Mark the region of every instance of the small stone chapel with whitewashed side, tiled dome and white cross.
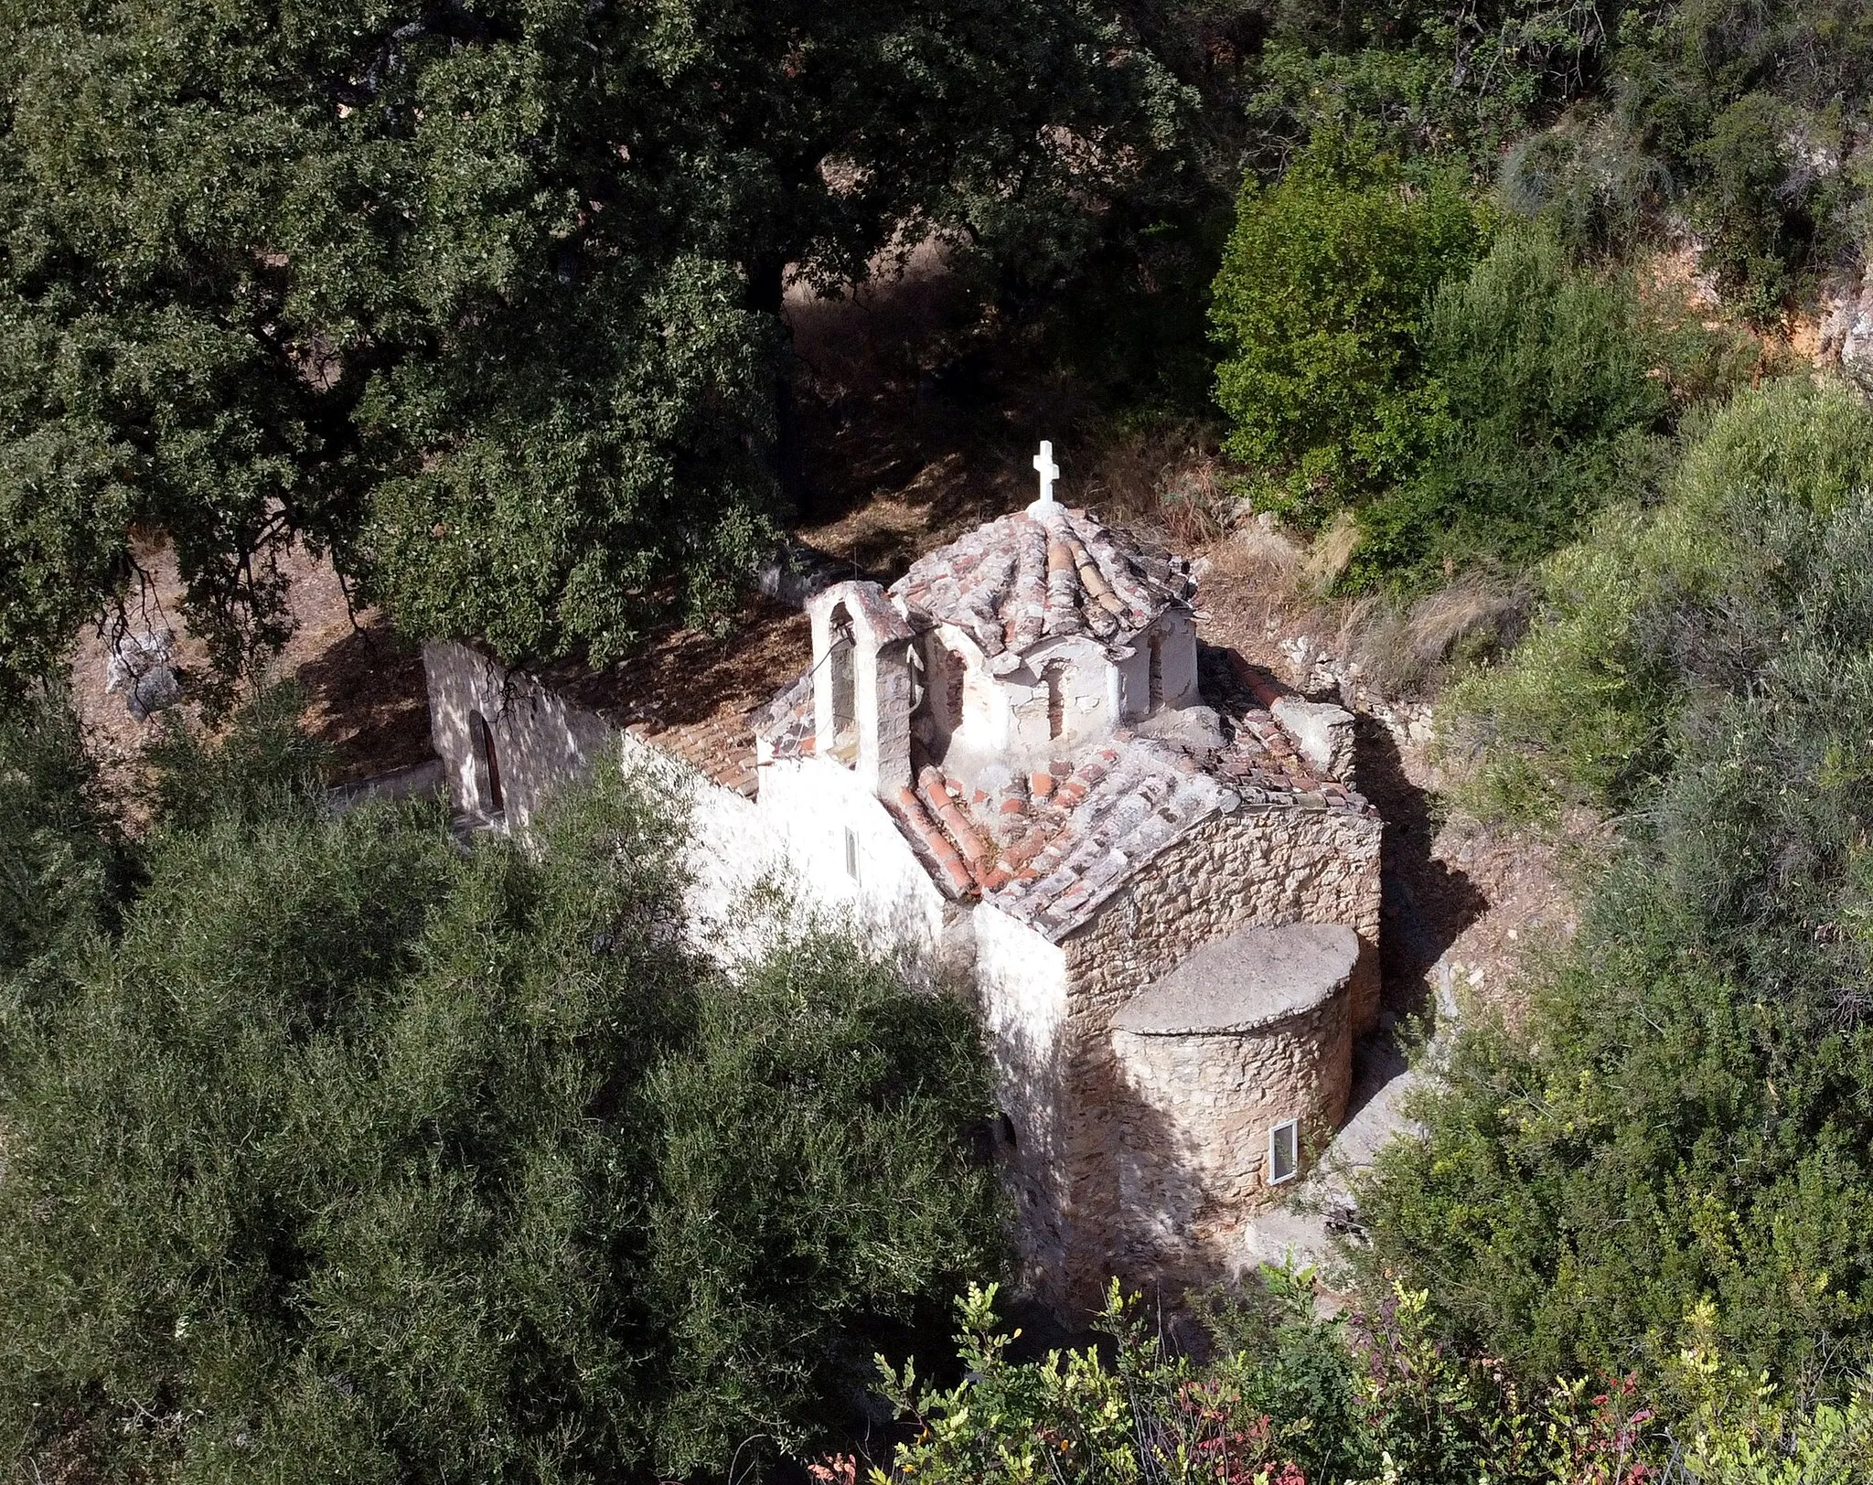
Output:
[[779,871],[959,968],[1026,1281],[1079,1311],[1113,1273],[1240,1268],[1339,1127],[1379,1015],[1380,820],[1350,717],[1199,650],[1191,566],[1054,500],[1047,444],[1036,468],[1040,500],[890,588],[813,594],[811,663],[706,757],[461,644],[425,670],[470,811],[524,826],[622,734],[687,788],[725,906]]

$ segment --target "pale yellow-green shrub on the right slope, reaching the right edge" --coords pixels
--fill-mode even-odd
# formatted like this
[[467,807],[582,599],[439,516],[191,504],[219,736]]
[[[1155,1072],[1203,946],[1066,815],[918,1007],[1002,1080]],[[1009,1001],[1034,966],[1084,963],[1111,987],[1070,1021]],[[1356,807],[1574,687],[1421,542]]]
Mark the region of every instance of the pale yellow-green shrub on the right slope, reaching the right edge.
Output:
[[1791,378],[1738,395],[1684,444],[1665,502],[1613,509],[1556,552],[1521,648],[1448,697],[1482,813],[1551,816],[1643,792],[1680,708],[1748,685],[1787,642],[1815,522],[1873,468],[1873,416],[1841,386]]

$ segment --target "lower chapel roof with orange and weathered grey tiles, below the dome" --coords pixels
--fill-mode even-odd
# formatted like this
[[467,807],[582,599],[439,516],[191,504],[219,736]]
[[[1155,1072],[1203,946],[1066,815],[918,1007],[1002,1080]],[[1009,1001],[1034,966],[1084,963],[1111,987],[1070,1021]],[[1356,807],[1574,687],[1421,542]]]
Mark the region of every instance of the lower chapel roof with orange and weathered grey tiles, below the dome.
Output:
[[1229,730],[1227,747],[1206,766],[1120,730],[1045,772],[995,775],[993,787],[972,788],[925,768],[914,788],[884,803],[948,897],[993,903],[1054,940],[1216,815],[1373,815],[1360,794],[1300,758],[1268,712],[1276,691],[1264,672],[1234,654],[1206,659],[1206,700]]

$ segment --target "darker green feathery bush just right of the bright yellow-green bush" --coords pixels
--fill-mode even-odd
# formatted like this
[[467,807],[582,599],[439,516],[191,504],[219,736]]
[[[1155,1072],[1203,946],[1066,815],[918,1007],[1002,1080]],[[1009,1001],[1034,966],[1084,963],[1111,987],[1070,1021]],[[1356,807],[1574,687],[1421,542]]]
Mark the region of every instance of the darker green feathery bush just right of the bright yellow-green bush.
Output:
[[1438,290],[1423,341],[1442,436],[1360,513],[1354,582],[1435,581],[1480,558],[1521,567],[1641,493],[1669,390],[1628,279],[1508,228]]

